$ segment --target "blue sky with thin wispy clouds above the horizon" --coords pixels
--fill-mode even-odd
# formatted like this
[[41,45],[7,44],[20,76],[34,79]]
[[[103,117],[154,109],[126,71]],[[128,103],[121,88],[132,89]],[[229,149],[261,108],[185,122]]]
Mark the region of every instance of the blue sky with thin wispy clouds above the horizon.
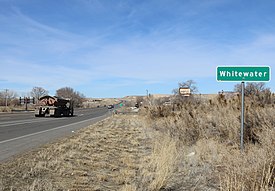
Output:
[[231,91],[217,66],[275,68],[274,10],[274,0],[0,0],[0,91],[124,97],[187,80],[202,94]]

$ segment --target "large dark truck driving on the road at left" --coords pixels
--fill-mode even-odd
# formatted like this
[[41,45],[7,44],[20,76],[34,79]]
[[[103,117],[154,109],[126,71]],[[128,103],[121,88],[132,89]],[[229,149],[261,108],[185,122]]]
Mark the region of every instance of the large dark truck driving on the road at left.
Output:
[[35,117],[62,117],[73,116],[73,101],[56,96],[43,96],[39,99],[39,105],[35,108]]

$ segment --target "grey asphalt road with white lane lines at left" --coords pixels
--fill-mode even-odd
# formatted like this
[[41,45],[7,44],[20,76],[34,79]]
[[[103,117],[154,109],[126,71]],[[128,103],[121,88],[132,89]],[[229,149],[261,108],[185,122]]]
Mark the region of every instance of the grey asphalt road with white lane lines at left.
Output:
[[33,112],[0,114],[0,161],[72,135],[110,115],[107,108],[75,110],[74,117],[34,117]]

